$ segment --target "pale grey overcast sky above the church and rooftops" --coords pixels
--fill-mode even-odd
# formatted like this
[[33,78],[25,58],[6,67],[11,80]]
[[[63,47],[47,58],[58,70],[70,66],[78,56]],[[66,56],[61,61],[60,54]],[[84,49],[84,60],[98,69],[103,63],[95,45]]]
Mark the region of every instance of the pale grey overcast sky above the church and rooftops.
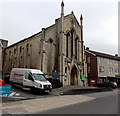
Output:
[[[26,1],[26,2],[24,2]],[[60,17],[62,0],[1,0],[0,38],[9,45],[49,27]],[[64,0],[65,15],[83,15],[85,46],[92,50],[118,53],[119,0]]]

